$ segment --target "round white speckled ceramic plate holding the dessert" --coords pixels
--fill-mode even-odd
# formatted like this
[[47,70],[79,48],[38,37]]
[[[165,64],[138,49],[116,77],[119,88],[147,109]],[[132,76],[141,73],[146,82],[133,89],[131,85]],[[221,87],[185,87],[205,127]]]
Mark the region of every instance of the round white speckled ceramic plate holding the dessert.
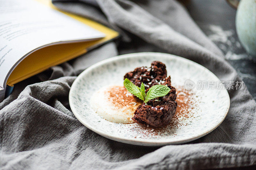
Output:
[[[167,75],[171,75],[172,86],[184,87],[191,84],[190,91],[196,98],[196,106],[189,111],[187,118],[179,117],[178,125],[168,125],[156,130],[151,127],[133,124],[116,124],[101,118],[90,106],[90,97],[102,86],[122,85],[126,72],[136,67],[150,66],[152,61],[166,65]],[[100,61],[87,68],[74,81],[69,103],[76,118],[92,131],[106,138],[123,143],[144,146],[181,144],[198,139],[217,128],[225,119],[230,99],[226,89],[197,89],[200,81],[220,81],[205,67],[166,53],[131,53]],[[199,86],[198,86],[199,87]],[[178,103],[179,104],[179,103]],[[192,116],[191,116],[192,115]]]

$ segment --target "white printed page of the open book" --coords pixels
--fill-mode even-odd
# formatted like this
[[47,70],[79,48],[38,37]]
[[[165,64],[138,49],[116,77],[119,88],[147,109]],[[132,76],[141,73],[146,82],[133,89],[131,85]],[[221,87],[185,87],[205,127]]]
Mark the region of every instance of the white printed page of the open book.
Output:
[[15,63],[40,46],[103,37],[102,32],[34,0],[0,0],[0,86],[5,88]]

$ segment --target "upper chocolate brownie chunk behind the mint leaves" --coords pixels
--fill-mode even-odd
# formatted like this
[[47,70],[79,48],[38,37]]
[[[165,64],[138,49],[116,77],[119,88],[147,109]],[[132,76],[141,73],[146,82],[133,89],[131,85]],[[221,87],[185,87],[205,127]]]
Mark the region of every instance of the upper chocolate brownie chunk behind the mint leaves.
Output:
[[145,90],[156,84],[161,84],[167,76],[167,71],[164,63],[160,61],[153,61],[151,67],[138,67],[134,71],[128,72],[124,75],[124,79],[127,78],[132,81],[133,84],[140,87],[141,82],[145,85]]

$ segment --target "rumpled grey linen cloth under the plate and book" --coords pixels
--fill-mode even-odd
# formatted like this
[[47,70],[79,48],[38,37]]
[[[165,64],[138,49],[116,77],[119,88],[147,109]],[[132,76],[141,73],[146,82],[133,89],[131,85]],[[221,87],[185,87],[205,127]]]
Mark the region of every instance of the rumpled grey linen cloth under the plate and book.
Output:
[[221,81],[241,81],[181,4],[174,0],[53,3],[116,29],[122,38],[15,86],[11,96],[0,103],[2,169],[206,169],[256,165],[256,103],[246,87],[228,90],[230,109],[217,129],[183,145],[142,147],[115,142],[87,129],[70,110],[68,92],[76,75],[117,54],[172,53],[203,65]]

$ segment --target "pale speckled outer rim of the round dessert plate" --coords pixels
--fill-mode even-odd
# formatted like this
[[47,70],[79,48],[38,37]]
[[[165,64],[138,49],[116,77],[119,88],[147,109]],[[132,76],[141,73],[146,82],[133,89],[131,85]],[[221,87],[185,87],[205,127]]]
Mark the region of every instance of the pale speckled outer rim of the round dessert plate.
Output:
[[[73,114],[75,115],[75,117],[84,126],[86,126],[90,130],[94,131],[95,133],[98,133],[99,135],[101,135],[101,136],[103,136],[105,138],[108,138],[108,139],[111,139],[111,140],[115,140],[115,141],[118,141],[118,142],[132,144],[132,145],[142,145],[142,146],[163,146],[163,145],[177,145],[177,144],[187,143],[187,142],[196,140],[198,138],[201,138],[201,137],[207,135],[208,133],[212,132],[213,130],[215,130],[224,121],[224,119],[226,118],[226,116],[228,114],[228,110],[229,110],[229,107],[230,107],[230,98],[229,98],[227,90],[223,90],[223,93],[225,93],[226,98],[228,99],[228,105],[226,107],[226,110],[223,111],[223,112],[225,112],[225,116],[223,117],[223,119],[218,124],[216,124],[216,126],[212,127],[211,130],[201,131],[201,133],[195,134],[195,135],[190,136],[189,138],[186,138],[186,139],[181,139],[181,140],[176,140],[176,141],[168,141],[168,140],[150,141],[150,140],[145,140],[145,139],[140,139],[140,138],[135,138],[135,139],[125,138],[125,137],[119,137],[117,135],[105,134],[103,131],[97,130],[92,125],[87,124],[86,122],[84,122],[83,118],[80,117],[80,115],[77,113],[78,111],[75,109],[75,106],[74,106],[75,102],[73,102],[73,99],[71,97],[73,95],[76,95],[74,89],[76,88],[79,79],[84,77],[84,75],[86,75],[91,70],[93,70],[93,69],[95,69],[95,68],[97,68],[97,67],[99,67],[101,65],[104,65],[106,63],[113,62],[113,61],[116,61],[116,60],[122,60],[122,59],[125,59],[125,58],[137,58],[137,57],[145,56],[145,55],[148,55],[148,56],[156,56],[157,55],[158,57],[164,56],[164,57],[170,57],[170,59],[171,58],[172,59],[175,58],[176,60],[181,60],[181,61],[183,60],[184,62],[188,62],[188,63],[193,64],[195,67],[200,67],[201,69],[205,70],[209,74],[212,74],[212,76],[214,76],[217,80],[219,80],[219,78],[215,74],[213,74],[210,70],[208,70],[207,68],[203,67],[202,65],[200,65],[200,64],[198,64],[198,63],[196,63],[194,61],[185,59],[183,57],[180,57],[180,56],[177,56],[177,55],[173,55],[173,54],[168,54],[168,53],[156,53],[156,52],[129,53],[129,54],[123,54],[123,55],[118,55],[118,56],[115,56],[115,57],[111,57],[111,58],[108,58],[106,60],[102,60],[102,61],[100,61],[100,62],[98,62],[96,64],[93,64],[92,66],[88,67],[81,74],[79,74],[78,77],[73,82],[73,84],[72,84],[72,86],[70,88],[70,91],[69,91],[69,105],[70,105],[70,108],[71,108]],[[161,60],[161,59],[159,58],[159,60]]]

